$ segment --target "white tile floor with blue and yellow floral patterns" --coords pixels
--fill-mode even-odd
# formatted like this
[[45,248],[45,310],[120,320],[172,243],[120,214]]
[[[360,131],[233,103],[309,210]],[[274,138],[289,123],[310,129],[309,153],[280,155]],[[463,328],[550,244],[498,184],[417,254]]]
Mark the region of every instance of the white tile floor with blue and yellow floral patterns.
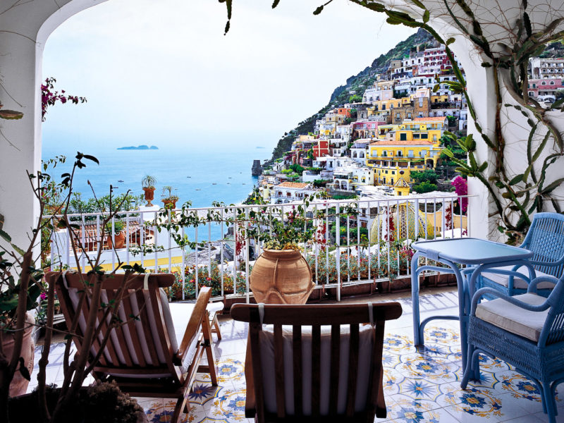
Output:
[[[374,298],[374,301],[381,300],[381,297]],[[537,388],[505,362],[482,357],[482,379],[462,391],[458,321],[431,322],[425,330],[425,347],[417,349],[412,342],[410,297],[396,295],[389,300],[402,304],[403,316],[386,326],[384,392],[388,417],[376,419],[377,422],[548,421],[542,412]],[[360,301],[366,300],[357,300]],[[456,314],[456,292],[428,293],[422,297],[421,309],[422,317],[436,313]],[[183,422],[247,422],[244,415],[247,329],[245,324],[223,319],[221,333],[223,339],[215,344],[219,386],[212,386],[208,375],[198,374],[190,393],[190,413],[183,415]],[[54,345],[52,353],[47,377],[49,382],[57,383],[61,381],[62,345]],[[138,400],[149,422],[168,422],[175,404],[173,400],[162,398]],[[558,398],[558,407],[557,422],[564,422],[561,398]]]

